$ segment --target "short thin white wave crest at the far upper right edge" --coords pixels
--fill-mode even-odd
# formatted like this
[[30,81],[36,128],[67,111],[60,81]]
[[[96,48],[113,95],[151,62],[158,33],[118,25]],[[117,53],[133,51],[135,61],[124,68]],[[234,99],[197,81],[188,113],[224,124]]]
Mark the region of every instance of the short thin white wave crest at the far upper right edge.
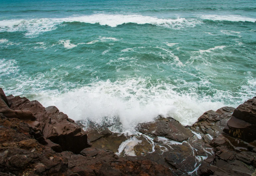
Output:
[[201,19],[213,21],[231,21],[231,22],[255,22],[256,19],[242,17],[240,15],[200,15]]

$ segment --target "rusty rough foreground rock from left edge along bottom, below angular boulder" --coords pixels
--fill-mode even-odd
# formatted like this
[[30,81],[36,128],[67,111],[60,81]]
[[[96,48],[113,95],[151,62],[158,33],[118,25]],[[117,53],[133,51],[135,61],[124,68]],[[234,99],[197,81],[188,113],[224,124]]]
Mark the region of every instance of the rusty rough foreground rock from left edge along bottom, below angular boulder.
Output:
[[163,165],[146,159],[119,159],[110,150],[90,147],[80,154],[56,153],[39,144],[34,139],[32,127],[17,118],[9,119],[0,114],[0,126],[0,175],[173,175]]

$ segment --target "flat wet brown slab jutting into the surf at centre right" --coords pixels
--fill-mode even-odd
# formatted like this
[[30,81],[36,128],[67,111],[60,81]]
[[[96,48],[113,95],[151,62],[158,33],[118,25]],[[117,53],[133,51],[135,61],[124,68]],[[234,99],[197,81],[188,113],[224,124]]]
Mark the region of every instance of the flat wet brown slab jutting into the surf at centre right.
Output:
[[191,131],[174,119],[158,119],[155,122],[141,124],[138,131],[152,136],[161,136],[182,142],[193,136]]

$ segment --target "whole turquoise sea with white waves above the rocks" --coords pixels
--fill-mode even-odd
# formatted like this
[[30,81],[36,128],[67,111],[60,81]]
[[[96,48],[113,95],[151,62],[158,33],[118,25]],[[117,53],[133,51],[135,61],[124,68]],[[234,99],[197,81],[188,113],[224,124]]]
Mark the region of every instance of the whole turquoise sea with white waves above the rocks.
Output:
[[255,96],[255,21],[253,0],[1,0],[0,87],[122,132],[191,125]]

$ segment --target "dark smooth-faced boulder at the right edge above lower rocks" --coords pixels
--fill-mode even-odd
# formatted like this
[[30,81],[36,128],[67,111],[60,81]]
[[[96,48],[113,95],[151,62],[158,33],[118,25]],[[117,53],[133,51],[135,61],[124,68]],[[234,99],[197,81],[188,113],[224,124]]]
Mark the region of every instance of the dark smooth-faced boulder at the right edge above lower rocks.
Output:
[[224,132],[249,143],[256,140],[256,97],[240,104],[234,110]]

